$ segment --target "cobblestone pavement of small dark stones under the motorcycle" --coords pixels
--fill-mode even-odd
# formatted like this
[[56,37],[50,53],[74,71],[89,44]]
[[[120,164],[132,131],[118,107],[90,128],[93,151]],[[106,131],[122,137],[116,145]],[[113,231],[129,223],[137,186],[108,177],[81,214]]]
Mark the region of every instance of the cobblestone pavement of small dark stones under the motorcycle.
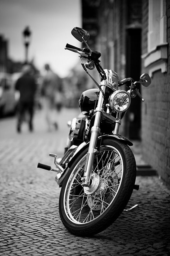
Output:
[[[140,189],[133,191],[126,209],[138,206],[123,211],[100,234],[76,237],[62,225],[55,173],[37,169],[37,163],[52,165],[48,153],[62,154],[67,120],[77,113],[63,109],[61,125],[51,133],[41,112],[34,133],[25,126],[17,134],[15,118],[0,119],[0,255],[170,255],[170,192],[157,176],[137,176]],[[139,148],[133,150],[141,163]]]

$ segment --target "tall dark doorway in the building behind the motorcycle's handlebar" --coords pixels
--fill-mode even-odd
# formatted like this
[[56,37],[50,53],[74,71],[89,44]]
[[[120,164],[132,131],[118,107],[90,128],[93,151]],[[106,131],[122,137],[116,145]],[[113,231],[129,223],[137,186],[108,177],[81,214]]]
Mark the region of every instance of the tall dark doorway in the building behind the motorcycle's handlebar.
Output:
[[[141,28],[126,30],[126,77],[139,81],[141,75]],[[140,91],[140,84],[137,85]],[[138,96],[131,98],[131,105],[127,111],[126,122],[128,129],[126,136],[132,140],[141,139],[141,100]]]

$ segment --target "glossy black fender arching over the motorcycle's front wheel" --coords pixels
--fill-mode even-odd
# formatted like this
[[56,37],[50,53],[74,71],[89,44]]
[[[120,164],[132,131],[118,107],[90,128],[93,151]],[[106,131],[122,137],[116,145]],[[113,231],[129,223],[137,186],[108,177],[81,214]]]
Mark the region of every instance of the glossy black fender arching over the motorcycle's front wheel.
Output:
[[[126,137],[121,136],[119,134],[106,134],[106,135],[102,135],[98,137],[98,143],[102,143],[102,139],[107,139],[107,138],[112,138],[112,140],[120,140],[122,142],[124,142],[125,144],[129,145],[129,146],[133,146],[133,143],[128,140]],[[89,147],[89,143],[85,144],[83,147],[80,148],[79,151],[76,152],[76,154],[74,154],[74,156],[71,158],[71,160],[69,161],[67,167],[65,168],[64,172],[62,173],[61,177],[58,179],[57,183],[58,185],[61,187],[62,186],[62,182],[64,180],[64,178],[66,177],[69,168],[71,167],[71,165],[73,164],[73,162],[77,159],[77,157],[81,154],[81,152],[83,152],[86,148]],[[99,145],[100,145],[99,144]]]

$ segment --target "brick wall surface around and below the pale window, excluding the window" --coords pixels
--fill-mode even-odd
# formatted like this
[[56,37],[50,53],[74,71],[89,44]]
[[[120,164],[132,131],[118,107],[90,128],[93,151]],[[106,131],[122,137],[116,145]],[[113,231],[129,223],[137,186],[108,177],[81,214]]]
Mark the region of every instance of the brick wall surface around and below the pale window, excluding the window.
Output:
[[[142,51],[147,52],[148,1],[143,1]],[[170,45],[170,4],[167,1],[167,41]],[[143,71],[144,68],[143,68]],[[170,188],[170,48],[167,72],[154,72],[149,87],[142,88],[142,147],[144,160],[152,165]]]

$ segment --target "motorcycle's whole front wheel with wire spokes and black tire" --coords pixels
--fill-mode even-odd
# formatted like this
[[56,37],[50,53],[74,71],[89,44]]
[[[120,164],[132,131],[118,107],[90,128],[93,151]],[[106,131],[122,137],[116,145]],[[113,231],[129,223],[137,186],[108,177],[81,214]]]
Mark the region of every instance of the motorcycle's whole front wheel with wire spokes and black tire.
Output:
[[92,236],[110,226],[128,203],[136,178],[131,149],[106,138],[94,157],[91,185],[82,187],[87,152],[70,167],[59,196],[61,221],[76,236]]

